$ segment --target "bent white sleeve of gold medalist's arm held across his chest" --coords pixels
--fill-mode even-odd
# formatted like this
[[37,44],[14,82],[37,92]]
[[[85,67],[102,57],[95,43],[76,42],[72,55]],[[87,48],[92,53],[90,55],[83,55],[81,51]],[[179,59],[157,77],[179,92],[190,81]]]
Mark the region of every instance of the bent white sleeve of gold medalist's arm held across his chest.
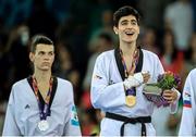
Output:
[[109,111],[125,105],[125,92],[123,82],[110,84],[109,61],[101,55],[97,58],[94,67],[90,100],[94,108]]

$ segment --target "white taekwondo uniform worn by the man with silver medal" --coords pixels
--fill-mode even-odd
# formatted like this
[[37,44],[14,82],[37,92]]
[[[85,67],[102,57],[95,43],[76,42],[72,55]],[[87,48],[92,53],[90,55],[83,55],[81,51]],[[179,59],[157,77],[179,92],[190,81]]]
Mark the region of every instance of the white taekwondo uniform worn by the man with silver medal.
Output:
[[81,136],[72,84],[61,78],[53,79],[53,101],[50,104],[50,115],[47,116],[49,128],[41,132],[37,126],[40,121],[38,102],[28,78],[25,78],[12,87],[3,136]]

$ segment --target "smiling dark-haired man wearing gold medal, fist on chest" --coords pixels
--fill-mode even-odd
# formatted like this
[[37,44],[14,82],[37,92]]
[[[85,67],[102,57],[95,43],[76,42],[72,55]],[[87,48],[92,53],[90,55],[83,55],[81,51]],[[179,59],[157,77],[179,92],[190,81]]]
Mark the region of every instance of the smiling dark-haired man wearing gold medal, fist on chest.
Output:
[[[156,136],[151,114],[156,107],[143,95],[146,83],[156,83],[164,72],[157,54],[137,46],[139,13],[132,7],[113,14],[113,30],[119,46],[96,60],[90,99],[95,109],[106,113],[100,136]],[[166,90],[171,112],[176,112],[180,92]]]

